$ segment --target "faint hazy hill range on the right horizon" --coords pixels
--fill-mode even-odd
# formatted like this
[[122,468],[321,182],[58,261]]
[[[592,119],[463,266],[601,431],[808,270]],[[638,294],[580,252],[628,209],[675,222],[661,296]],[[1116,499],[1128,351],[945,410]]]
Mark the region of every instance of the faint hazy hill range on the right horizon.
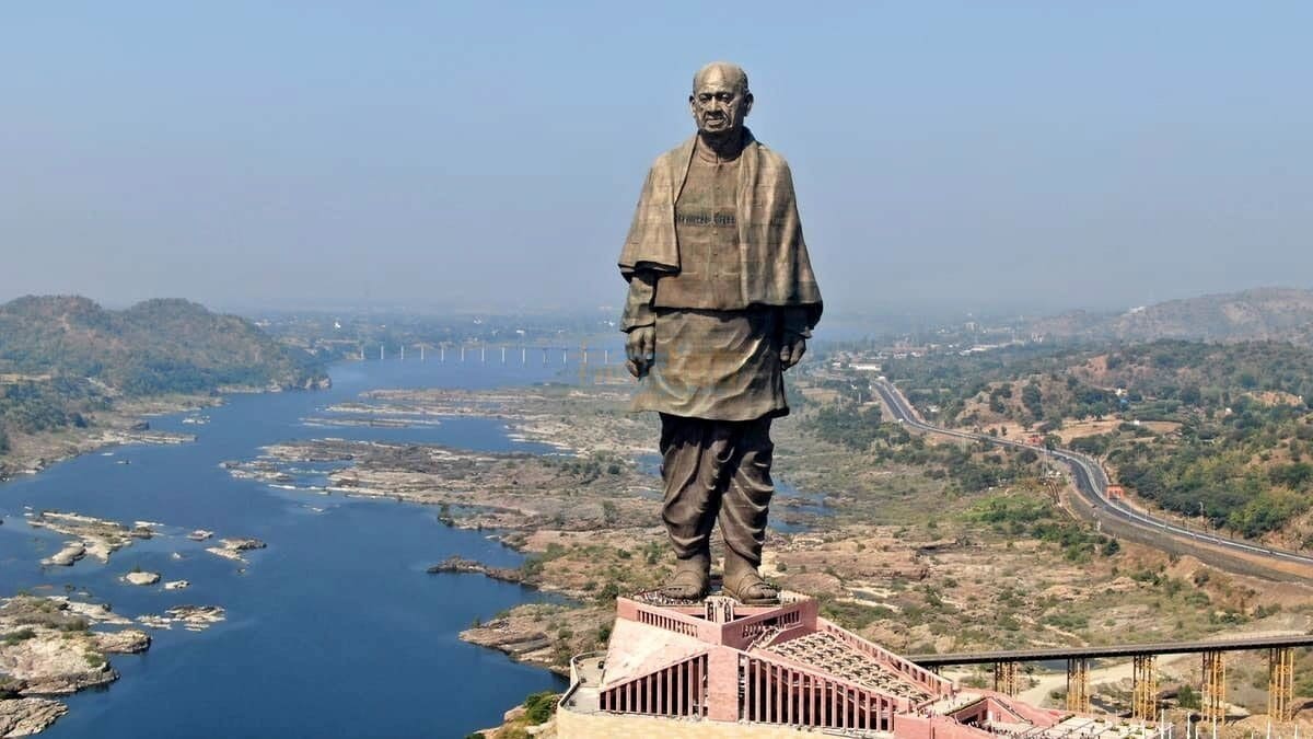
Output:
[[1255,288],[1159,302],[1119,316],[1073,312],[1040,318],[1031,330],[1062,339],[1284,341],[1313,346],[1313,291]]

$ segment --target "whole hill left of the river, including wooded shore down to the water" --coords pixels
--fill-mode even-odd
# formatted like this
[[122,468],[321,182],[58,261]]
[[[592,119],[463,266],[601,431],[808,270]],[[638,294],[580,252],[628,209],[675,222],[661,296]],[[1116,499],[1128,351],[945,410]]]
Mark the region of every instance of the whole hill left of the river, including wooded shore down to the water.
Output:
[[185,300],[126,310],[76,296],[0,305],[0,455],[17,437],[92,426],[121,400],[326,381],[309,355]]

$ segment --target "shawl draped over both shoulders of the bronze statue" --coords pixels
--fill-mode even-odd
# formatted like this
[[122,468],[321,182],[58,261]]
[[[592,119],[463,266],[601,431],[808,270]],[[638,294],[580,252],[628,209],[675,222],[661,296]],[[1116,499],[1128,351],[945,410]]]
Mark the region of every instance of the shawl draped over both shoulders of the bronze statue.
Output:
[[[811,272],[807,245],[793,195],[793,175],[783,156],[751,131],[739,155],[738,230],[742,262],[739,289],[746,305],[802,305],[807,323],[821,318],[821,289]],[[696,135],[662,154],[647,172],[634,222],[620,254],[625,279],[639,270],[679,272],[675,201],[684,188]]]

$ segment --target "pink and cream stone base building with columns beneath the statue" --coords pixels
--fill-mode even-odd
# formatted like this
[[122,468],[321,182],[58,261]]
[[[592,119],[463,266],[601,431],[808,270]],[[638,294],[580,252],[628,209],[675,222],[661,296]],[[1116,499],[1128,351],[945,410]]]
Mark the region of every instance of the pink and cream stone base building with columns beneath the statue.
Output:
[[962,689],[819,617],[793,593],[779,606],[723,597],[659,605],[617,598],[605,654],[571,663],[562,738],[1137,736],[1157,728]]

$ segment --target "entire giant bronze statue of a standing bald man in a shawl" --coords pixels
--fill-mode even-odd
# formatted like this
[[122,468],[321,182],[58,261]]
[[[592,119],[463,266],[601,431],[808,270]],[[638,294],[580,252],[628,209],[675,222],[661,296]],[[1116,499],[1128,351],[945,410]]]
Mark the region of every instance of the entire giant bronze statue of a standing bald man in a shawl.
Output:
[[821,291],[789,166],[743,126],[747,74],[702,67],[688,104],[697,134],[656,158],[620,255],[634,409],[662,422],[662,519],[679,560],[662,594],[708,594],[720,519],[725,594],[773,604],[779,592],[758,569],[771,419],[789,412],[783,373],[806,351]]

